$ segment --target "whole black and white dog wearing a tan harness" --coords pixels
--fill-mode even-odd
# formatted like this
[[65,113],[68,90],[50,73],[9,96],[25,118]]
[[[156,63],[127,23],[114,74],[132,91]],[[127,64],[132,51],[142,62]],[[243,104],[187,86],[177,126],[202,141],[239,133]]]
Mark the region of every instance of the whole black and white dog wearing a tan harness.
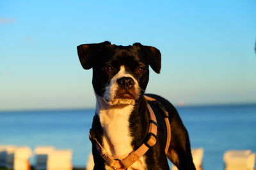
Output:
[[[79,45],[77,53],[83,68],[93,69],[96,108],[90,139],[94,169],[165,170],[170,169],[167,157],[180,170],[195,169],[188,131],[179,113],[163,97],[145,94],[149,66],[158,74],[161,70],[157,48],[104,41]],[[169,141],[164,120],[170,122]],[[142,147],[143,153],[138,153]]]

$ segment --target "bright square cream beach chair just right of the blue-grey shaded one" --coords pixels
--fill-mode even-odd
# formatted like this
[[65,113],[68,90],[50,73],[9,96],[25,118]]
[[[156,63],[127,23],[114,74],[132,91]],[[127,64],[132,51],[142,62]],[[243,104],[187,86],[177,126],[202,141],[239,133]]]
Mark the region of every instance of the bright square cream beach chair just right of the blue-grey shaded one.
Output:
[[47,170],[72,170],[72,150],[54,150],[49,153]]

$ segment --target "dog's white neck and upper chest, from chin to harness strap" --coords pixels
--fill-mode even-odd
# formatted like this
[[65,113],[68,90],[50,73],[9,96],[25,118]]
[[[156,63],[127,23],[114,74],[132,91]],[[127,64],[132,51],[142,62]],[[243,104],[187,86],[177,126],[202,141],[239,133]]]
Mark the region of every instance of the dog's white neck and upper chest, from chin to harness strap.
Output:
[[133,149],[129,118],[134,106],[111,106],[100,97],[96,98],[95,113],[99,115],[103,129],[103,146],[113,157],[124,159]]

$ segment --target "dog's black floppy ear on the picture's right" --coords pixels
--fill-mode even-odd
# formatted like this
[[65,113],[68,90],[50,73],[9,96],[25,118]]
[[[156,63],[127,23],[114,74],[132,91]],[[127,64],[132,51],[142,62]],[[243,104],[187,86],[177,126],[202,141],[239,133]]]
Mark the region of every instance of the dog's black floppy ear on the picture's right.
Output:
[[140,47],[141,51],[145,53],[148,59],[148,64],[156,73],[160,73],[161,70],[161,53],[154,46],[145,46],[141,43],[134,43],[134,46]]

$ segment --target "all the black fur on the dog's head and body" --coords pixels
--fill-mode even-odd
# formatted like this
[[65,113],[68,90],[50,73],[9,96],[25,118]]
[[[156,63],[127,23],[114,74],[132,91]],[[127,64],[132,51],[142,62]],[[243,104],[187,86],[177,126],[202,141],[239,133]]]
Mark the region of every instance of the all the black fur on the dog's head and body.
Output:
[[[152,46],[143,46],[135,43],[132,46],[116,46],[111,45],[108,41],[97,44],[86,44],[77,46],[79,60],[84,69],[93,68],[93,89],[98,96],[102,96],[105,87],[116,73],[120,66],[125,66],[127,71],[131,73],[140,85],[140,96],[135,98],[136,106],[129,118],[130,132],[133,138],[132,147],[136,150],[145,140],[149,126],[149,115],[147,110],[147,101],[143,94],[147,87],[149,70],[148,66],[156,73],[161,70],[161,53],[157,48]],[[102,67],[111,66],[111,71],[104,71]],[[145,69],[143,73],[138,73],[138,68]],[[168,111],[170,125],[172,128],[172,137],[168,153],[164,153],[166,145],[166,125],[162,111],[156,104],[150,103],[159,124],[157,132],[157,143],[145,153],[145,161],[147,169],[169,169],[167,157],[181,169],[195,169],[191,156],[191,148],[189,136],[186,128],[182,124],[182,120],[177,110],[166,99],[153,94],[147,96],[157,99],[162,106]],[[94,129],[95,137],[102,144],[103,129],[100,125],[99,116],[93,118],[92,129]],[[93,159],[95,161],[94,169],[105,169],[104,160],[100,157],[95,145],[93,145]]]

